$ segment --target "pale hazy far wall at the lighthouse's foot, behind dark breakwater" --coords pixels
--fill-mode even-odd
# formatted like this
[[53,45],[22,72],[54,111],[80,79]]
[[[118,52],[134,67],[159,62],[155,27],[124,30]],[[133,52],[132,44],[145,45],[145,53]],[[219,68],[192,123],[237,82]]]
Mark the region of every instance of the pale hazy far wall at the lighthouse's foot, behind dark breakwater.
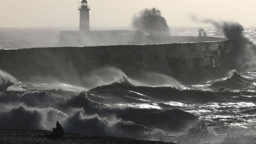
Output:
[[214,36],[144,36],[138,31],[61,31],[59,46],[113,46],[133,44],[170,44],[184,42],[225,41],[227,38]]

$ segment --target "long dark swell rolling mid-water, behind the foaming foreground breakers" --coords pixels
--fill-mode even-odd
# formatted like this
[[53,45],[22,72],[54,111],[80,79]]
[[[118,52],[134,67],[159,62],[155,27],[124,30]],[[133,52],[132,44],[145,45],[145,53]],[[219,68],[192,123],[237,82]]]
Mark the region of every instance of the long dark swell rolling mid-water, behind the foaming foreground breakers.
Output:
[[[182,102],[182,103],[207,103],[207,102],[225,102],[233,99],[240,92],[232,90],[217,90],[217,91],[202,91],[202,90],[178,90],[174,87],[150,87],[150,86],[134,86],[129,82],[115,82],[110,85],[98,86],[88,90],[88,97],[95,98],[103,96],[104,102],[108,102],[106,98],[122,98],[122,102],[126,102],[126,95],[134,98],[151,99],[152,101],[160,102]],[[246,92],[245,95],[254,94],[254,92]],[[147,96],[147,98],[145,98]],[[130,102],[127,100],[127,102]]]

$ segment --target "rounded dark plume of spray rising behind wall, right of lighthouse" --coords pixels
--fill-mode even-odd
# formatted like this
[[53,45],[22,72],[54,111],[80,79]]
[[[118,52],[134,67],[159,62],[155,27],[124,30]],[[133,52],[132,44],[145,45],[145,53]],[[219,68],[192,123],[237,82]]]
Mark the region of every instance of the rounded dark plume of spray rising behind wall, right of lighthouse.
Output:
[[161,11],[156,8],[144,9],[133,17],[134,28],[151,36],[169,36],[170,30]]

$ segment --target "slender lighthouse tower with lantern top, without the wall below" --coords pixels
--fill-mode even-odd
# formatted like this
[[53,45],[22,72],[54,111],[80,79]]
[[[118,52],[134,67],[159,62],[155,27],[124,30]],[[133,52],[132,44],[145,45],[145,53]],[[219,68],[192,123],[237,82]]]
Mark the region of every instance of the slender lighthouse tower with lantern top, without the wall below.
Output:
[[88,6],[86,0],[82,0],[81,6],[79,6],[79,10],[80,10],[79,30],[85,33],[89,32],[90,31],[90,16],[89,16],[90,6]]

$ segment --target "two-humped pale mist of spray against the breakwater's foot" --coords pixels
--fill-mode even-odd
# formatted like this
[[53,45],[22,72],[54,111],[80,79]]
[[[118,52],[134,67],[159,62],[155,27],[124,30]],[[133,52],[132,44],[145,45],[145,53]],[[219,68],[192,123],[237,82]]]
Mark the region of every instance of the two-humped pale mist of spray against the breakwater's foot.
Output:
[[143,70],[138,76],[131,78],[122,70],[113,66],[93,69],[83,77],[83,83],[88,88],[110,85],[116,82],[133,86],[175,86],[178,88],[181,86],[181,83],[175,78],[165,74]]

